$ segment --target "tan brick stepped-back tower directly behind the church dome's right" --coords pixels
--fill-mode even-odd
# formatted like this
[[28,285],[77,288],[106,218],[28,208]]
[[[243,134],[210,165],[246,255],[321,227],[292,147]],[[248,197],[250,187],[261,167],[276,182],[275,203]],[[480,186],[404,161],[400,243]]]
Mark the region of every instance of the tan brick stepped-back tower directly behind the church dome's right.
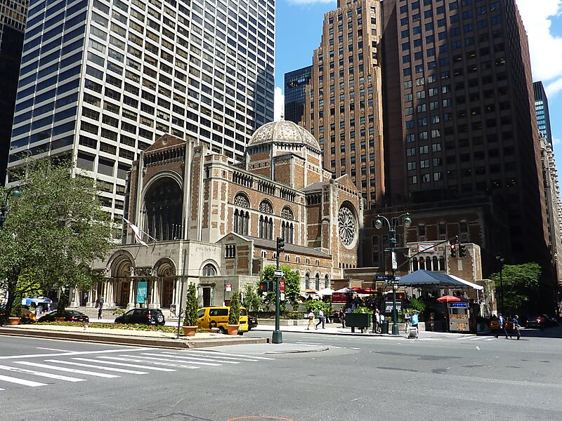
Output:
[[338,0],[325,14],[303,118],[325,168],[351,175],[367,206],[384,196],[380,28],[379,0]]

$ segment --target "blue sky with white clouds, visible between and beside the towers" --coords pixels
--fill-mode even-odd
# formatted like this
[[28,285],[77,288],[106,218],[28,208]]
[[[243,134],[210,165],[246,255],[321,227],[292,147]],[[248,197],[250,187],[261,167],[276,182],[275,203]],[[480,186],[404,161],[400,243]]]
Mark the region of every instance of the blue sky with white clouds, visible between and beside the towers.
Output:
[[[528,34],[533,81],[542,81],[547,90],[554,152],[558,166],[562,166],[562,0],[516,3]],[[276,119],[283,101],[285,73],[312,64],[313,51],[320,45],[324,14],[336,5],[336,0],[276,1]]]

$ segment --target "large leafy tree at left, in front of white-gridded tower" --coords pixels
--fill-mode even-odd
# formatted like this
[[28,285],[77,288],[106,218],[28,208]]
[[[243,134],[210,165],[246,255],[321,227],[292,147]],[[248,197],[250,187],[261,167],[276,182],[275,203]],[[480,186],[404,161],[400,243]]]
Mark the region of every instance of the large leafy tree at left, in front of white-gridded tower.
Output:
[[90,264],[111,246],[110,215],[100,206],[94,181],[72,177],[71,168],[41,159],[13,173],[21,196],[0,231],[0,289],[8,291],[8,312],[18,290],[60,287],[64,309],[71,288],[101,279]]

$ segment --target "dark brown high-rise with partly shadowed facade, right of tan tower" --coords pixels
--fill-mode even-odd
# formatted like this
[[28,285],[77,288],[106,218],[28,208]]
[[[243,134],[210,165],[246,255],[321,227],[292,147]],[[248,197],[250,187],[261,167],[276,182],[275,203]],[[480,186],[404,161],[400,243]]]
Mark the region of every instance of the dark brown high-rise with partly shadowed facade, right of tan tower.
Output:
[[513,262],[549,272],[527,36],[515,0],[384,0],[387,199],[494,196]]

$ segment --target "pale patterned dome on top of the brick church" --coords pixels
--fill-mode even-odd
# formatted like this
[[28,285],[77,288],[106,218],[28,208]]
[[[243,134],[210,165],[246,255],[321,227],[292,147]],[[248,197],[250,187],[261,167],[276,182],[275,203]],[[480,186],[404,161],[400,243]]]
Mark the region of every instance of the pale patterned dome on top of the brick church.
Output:
[[259,127],[248,142],[248,147],[263,143],[281,142],[307,145],[320,152],[318,140],[305,128],[287,120],[272,121]]

